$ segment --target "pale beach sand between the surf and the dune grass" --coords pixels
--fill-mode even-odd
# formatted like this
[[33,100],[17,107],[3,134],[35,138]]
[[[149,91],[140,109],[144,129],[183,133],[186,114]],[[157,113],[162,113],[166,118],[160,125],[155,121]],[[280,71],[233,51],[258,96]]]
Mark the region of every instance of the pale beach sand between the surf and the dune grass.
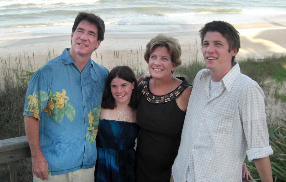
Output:
[[[279,17],[279,20],[283,18]],[[240,32],[241,48],[236,56],[237,60],[254,57],[263,58],[273,54],[286,54],[286,18],[285,21],[262,21],[261,23],[235,24]],[[197,25],[202,27],[203,24]],[[197,31],[166,33],[179,40],[182,47],[181,59],[184,62],[192,61],[193,55],[198,50],[198,56],[202,59],[200,51],[200,36]],[[100,47],[93,53],[92,59],[109,70],[118,64],[127,64],[127,60],[142,62],[145,46],[157,33],[146,34],[108,34]],[[48,50],[52,57],[60,55],[64,48],[70,47],[70,35],[52,36],[22,40],[0,40],[0,57],[2,60],[15,62],[15,56],[29,56],[36,67],[43,65],[48,60]],[[114,54],[117,54],[114,55]],[[131,55],[132,54],[132,55]],[[115,61],[117,60],[117,61]],[[117,63],[119,62],[119,63]],[[1,66],[1,64],[0,64]]]

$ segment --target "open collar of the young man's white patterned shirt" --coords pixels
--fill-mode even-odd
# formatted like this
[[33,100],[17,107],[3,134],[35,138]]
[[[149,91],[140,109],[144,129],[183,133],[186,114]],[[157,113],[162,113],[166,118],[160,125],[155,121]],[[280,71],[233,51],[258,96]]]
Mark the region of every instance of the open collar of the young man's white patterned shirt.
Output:
[[[233,87],[233,84],[235,82],[235,79],[240,74],[240,67],[238,63],[235,61],[234,66],[229,70],[229,72],[221,79],[220,83],[224,84],[227,91],[230,91]],[[209,69],[203,72],[200,79],[208,79],[211,75],[211,72]]]

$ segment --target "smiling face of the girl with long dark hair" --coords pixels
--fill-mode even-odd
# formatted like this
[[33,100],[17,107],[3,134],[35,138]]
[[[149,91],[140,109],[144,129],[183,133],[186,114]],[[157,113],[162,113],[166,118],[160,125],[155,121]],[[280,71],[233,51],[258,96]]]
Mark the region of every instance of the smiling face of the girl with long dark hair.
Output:
[[112,96],[116,103],[129,103],[134,89],[134,82],[128,82],[121,78],[114,78],[110,83]]

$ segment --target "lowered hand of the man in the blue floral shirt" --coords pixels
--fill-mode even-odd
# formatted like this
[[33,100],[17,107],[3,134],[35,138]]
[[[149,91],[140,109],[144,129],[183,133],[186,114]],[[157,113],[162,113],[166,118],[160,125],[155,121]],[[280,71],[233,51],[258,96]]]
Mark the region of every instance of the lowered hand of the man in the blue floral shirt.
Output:
[[32,161],[32,170],[35,176],[41,180],[48,179],[48,163],[45,157],[34,157]]

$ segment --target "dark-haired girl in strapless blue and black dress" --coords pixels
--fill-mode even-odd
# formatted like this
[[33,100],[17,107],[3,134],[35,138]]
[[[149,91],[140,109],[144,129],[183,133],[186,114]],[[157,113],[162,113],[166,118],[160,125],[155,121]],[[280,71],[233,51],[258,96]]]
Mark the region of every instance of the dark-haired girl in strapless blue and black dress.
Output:
[[102,97],[95,181],[135,181],[137,81],[128,66],[113,68]]

